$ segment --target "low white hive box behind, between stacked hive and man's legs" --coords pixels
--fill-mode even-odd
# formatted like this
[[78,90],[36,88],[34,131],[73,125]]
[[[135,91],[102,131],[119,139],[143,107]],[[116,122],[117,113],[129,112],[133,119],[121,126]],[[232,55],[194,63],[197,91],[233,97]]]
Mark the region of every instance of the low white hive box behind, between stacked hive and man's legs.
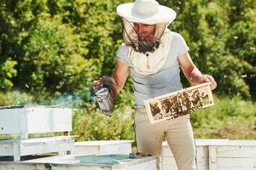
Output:
[[74,154],[129,154],[132,140],[96,140],[76,142]]

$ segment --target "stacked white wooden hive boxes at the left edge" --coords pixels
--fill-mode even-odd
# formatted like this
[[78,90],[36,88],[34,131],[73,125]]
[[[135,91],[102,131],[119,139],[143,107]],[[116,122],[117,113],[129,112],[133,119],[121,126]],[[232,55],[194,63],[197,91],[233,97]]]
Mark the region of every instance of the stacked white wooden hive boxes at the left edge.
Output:
[[73,150],[73,136],[28,139],[29,133],[69,132],[72,110],[49,106],[11,106],[0,108],[0,134],[18,134],[20,139],[0,140],[0,156],[20,156]]

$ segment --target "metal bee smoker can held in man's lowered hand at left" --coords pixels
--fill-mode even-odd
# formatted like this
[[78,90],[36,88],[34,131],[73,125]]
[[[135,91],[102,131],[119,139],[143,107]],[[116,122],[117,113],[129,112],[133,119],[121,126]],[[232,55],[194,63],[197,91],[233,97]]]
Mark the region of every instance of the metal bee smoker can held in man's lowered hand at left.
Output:
[[98,105],[100,106],[102,112],[105,115],[110,116],[113,111],[113,93],[111,91],[111,87],[105,87],[105,84],[99,82],[96,87],[93,87],[96,100]]

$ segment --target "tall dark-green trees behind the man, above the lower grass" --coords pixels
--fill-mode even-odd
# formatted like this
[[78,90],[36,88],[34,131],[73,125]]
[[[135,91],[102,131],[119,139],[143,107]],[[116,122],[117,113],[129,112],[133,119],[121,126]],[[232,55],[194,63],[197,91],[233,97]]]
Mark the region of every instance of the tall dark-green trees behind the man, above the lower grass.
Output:
[[[90,83],[113,71],[122,38],[115,8],[124,2],[3,1],[0,54],[3,61],[17,61],[17,78],[2,83],[9,88],[13,83],[15,88],[32,94],[40,92],[43,99],[52,94],[57,97],[83,92],[89,101]],[[170,27],[185,37],[200,70],[217,77],[218,93],[241,94],[244,98],[255,94],[253,1],[159,3],[177,11],[177,20]],[[226,56],[228,59],[224,59]],[[222,65],[227,67],[223,69]],[[222,72],[227,69],[234,71]],[[223,75],[230,76],[231,81],[222,80]]]

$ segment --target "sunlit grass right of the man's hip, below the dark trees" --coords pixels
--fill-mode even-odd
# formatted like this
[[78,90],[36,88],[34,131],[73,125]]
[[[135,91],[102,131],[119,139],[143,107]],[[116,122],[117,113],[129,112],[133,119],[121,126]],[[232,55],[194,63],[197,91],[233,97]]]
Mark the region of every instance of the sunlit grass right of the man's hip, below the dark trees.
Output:
[[236,96],[214,97],[215,105],[192,113],[195,138],[256,139],[256,105]]

